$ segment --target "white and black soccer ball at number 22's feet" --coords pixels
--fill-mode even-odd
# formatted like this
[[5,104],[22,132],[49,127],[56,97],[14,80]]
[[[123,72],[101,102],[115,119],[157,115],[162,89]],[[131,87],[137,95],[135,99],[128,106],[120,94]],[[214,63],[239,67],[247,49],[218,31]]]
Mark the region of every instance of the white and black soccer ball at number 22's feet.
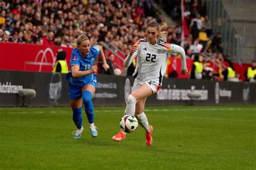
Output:
[[126,133],[134,132],[138,127],[138,120],[133,115],[125,115],[120,120],[120,127]]

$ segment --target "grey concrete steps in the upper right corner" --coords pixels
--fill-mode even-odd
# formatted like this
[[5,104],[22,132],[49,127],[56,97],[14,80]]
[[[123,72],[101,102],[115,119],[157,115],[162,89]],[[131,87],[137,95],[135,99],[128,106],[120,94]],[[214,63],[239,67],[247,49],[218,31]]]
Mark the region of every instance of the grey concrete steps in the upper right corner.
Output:
[[256,1],[255,0],[223,0],[242,40],[242,63],[251,63],[256,59]]

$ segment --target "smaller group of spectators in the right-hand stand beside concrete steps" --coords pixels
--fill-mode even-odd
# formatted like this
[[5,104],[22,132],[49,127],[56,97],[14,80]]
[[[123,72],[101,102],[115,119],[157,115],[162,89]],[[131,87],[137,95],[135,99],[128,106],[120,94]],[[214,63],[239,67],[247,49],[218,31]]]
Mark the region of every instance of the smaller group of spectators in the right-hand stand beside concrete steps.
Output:
[[[176,29],[181,30],[181,1],[157,0],[156,2],[163,6],[173,21],[178,23]],[[235,72],[230,54],[224,53],[221,33],[213,32],[210,18],[207,16],[206,5],[202,2],[200,0],[184,0],[184,18],[189,33],[180,41],[179,39],[182,37],[176,32],[174,36],[178,39],[173,42],[171,40],[171,42],[175,44],[182,42],[181,45],[186,51],[187,58],[194,59],[190,78],[240,81],[241,71]],[[198,72],[201,76],[195,76]],[[173,73],[171,76],[173,77]],[[247,79],[246,73],[242,76]]]

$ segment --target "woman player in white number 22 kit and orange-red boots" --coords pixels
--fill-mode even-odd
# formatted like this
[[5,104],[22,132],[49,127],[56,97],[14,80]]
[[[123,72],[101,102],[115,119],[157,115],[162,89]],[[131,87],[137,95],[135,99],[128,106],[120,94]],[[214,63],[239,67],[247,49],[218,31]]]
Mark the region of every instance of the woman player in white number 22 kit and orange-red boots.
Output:
[[[147,121],[144,107],[146,98],[160,89],[163,75],[167,66],[167,59],[171,52],[178,52],[181,56],[181,74],[187,74],[186,55],[182,47],[165,43],[160,38],[166,37],[164,26],[156,21],[147,24],[146,38],[139,39],[130,49],[124,60],[124,67],[130,66],[137,56],[137,65],[133,73],[134,83],[132,93],[127,98],[124,114],[135,115],[139,124],[146,130],[146,145],[152,144],[151,133],[153,126]],[[122,141],[126,133],[122,130],[112,137],[114,141]]]

